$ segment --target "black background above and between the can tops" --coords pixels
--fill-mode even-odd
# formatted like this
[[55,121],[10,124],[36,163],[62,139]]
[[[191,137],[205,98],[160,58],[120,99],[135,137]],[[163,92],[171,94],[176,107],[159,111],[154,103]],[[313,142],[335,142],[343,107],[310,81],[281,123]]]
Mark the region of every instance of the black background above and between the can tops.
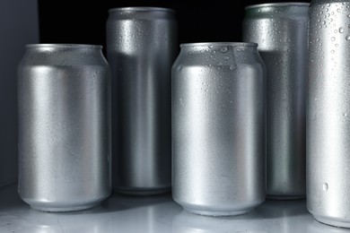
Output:
[[40,43],[99,44],[105,52],[108,10],[122,6],[160,6],[174,9],[179,23],[179,43],[240,42],[244,7],[277,2],[290,1],[216,0],[196,3],[189,0],[39,0]]

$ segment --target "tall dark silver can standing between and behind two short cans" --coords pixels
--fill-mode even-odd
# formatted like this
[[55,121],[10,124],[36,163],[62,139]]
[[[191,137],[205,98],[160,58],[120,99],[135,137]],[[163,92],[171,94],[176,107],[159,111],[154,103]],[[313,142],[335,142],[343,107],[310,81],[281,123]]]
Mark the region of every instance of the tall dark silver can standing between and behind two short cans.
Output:
[[124,194],[171,190],[171,65],[178,55],[175,11],[109,9],[112,73],[112,186]]

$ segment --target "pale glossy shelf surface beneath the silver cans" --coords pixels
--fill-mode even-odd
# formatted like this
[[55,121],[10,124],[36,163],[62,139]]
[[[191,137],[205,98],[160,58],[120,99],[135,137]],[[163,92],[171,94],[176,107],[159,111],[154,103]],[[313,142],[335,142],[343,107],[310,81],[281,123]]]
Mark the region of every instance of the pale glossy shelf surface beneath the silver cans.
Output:
[[0,189],[0,232],[25,233],[222,233],[222,232],[349,232],[314,220],[305,199],[267,200],[249,213],[206,217],[188,213],[171,194],[131,196],[112,194],[86,211],[49,213],[22,202],[17,186]]

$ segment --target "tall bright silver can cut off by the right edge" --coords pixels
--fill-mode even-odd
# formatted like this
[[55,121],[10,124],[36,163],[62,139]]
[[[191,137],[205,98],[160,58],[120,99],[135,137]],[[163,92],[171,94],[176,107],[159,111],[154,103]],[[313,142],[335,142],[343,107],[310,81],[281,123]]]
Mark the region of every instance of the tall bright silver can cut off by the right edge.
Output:
[[350,2],[311,1],[307,208],[350,228]]

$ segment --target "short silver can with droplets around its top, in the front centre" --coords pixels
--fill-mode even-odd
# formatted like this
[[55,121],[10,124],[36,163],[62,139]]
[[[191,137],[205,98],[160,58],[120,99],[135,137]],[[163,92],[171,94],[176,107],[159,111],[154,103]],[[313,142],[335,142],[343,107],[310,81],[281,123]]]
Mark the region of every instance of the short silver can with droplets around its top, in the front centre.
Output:
[[172,66],[173,199],[204,215],[265,200],[265,65],[255,43],[182,44]]

